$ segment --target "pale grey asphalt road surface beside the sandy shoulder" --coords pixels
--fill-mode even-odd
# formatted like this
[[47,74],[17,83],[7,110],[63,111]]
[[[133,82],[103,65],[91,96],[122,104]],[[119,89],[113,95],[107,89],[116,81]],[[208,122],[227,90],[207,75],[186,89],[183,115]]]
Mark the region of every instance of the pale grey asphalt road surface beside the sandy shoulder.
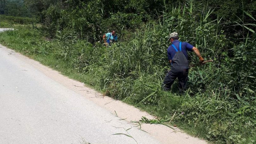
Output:
[[1,144],[160,143],[10,51],[0,45]]

